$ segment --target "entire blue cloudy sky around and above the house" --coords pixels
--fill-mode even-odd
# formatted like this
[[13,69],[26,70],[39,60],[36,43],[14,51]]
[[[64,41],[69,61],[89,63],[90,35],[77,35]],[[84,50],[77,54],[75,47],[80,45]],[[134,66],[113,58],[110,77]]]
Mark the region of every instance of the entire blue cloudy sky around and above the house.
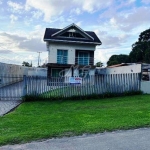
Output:
[[0,0],[0,62],[47,63],[43,36],[46,28],[75,23],[94,31],[102,45],[95,63],[129,54],[139,34],[150,28],[150,0]]

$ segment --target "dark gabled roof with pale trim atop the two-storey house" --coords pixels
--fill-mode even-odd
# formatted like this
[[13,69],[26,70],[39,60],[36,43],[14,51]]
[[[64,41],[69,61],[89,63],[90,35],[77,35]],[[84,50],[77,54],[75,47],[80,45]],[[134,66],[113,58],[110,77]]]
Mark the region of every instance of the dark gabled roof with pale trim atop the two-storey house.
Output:
[[[61,36],[64,33],[68,32],[70,29],[74,28],[81,34],[84,38],[78,37],[65,37]],[[46,28],[44,41],[52,41],[52,42],[69,42],[69,43],[87,43],[87,44],[95,44],[101,45],[100,39],[97,35],[92,31],[84,31],[74,23],[63,28],[63,29],[56,29],[56,28]]]

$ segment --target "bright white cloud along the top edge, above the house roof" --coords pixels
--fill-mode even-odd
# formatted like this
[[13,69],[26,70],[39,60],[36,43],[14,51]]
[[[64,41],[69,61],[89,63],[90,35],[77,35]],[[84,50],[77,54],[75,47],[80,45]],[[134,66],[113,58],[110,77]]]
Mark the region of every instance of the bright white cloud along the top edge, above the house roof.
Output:
[[[112,4],[113,0],[27,0],[26,8],[34,8],[44,14],[44,21],[51,21],[53,17],[62,15],[63,12],[72,12],[80,14],[82,11],[89,13],[95,12],[101,8],[106,8]],[[61,3],[61,4],[60,4]]]

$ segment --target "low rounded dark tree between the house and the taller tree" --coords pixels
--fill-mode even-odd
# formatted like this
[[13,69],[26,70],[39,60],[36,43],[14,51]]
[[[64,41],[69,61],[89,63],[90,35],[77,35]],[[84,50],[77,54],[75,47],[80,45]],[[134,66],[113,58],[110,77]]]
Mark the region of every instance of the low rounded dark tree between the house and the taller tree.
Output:
[[111,66],[111,65],[116,65],[116,64],[121,64],[121,63],[129,63],[129,56],[125,55],[125,54],[120,54],[120,55],[112,55],[108,62],[107,65]]

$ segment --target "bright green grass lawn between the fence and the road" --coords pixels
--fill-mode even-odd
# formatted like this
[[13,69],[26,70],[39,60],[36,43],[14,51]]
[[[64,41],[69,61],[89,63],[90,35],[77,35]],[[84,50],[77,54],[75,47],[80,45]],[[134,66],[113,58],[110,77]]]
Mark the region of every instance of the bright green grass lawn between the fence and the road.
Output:
[[0,117],[0,145],[150,126],[150,95],[26,102]]

